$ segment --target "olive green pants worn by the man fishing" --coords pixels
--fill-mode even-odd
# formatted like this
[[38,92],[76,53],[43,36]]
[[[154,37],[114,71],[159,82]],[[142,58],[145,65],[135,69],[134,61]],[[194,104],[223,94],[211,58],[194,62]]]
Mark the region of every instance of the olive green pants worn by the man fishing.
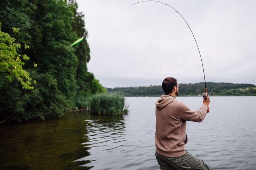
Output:
[[155,152],[156,160],[161,170],[213,170],[198,157],[186,152],[180,157],[165,157]]

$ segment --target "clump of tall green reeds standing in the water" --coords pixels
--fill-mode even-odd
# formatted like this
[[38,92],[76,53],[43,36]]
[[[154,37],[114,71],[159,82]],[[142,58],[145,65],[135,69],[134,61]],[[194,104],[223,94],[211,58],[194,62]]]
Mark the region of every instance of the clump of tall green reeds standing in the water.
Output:
[[117,115],[128,112],[125,97],[117,93],[94,94],[90,100],[90,111],[96,114]]

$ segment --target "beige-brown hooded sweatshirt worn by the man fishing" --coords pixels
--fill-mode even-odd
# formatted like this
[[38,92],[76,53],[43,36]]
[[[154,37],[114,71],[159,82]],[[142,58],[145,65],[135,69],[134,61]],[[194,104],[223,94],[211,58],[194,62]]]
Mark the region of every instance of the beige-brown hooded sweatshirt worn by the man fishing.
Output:
[[179,157],[186,153],[186,121],[203,121],[207,108],[203,105],[198,111],[192,111],[174,97],[162,95],[156,101],[156,152],[166,157]]

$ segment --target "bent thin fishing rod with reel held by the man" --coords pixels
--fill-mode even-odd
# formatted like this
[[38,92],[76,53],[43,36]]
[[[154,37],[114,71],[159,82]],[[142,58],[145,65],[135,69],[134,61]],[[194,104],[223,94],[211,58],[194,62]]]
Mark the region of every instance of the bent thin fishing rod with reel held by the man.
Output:
[[[149,2],[150,2],[150,1],[153,1],[153,2],[163,3],[163,4],[165,4],[166,6],[171,7],[173,10],[176,11],[176,13],[178,13],[178,14],[182,17],[182,15],[181,15],[176,9],[174,9],[172,6],[168,5],[167,3],[164,3],[164,2],[161,2],[161,1],[155,1],[155,0],[147,0],[147,1],[140,1],[140,2],[148,2],[148,1],[149,1]],[[136,3],[130,4],[130,6],[132,6],[132,5],[134,5],[134,4],[138,4],[138,3],[140,3],[140,2],[136,2]],[[191,30],[191,28],[190,28],[188,22],[187,22],[183,17],[182,17],[182,19],[183,19],[183,20],[186,22],[186,24],[188,25],[188,28],[190,29],[190,31],[191,31],[191,33],[192,33],[192,35],[193,35],[193,37],[194,37],[194,40],[195,40],[195,36],[194,36],[194,34],[193,34],[193,32],[192,32],[192,30]],[[196,40],[195,40],[195,43],[196,43],[196,47],[197,47],[197,49],[198,49],[197,52],[199,52],[200,59],[201,59],[201,63],[202,63],[202,67],[203,67],[203,60],[202,60],[201,53],[200,53],[200,50],[199,50],[199,47],[198,47],[198,44],[197,44]],[[204,75],[204,69],[203,69],[203,77],[204,77],[204,93],[203,93],[203,98],[206,100],[206,99],[209,99],[210,96],[213,96],[213,94],[209,94],[209,93],[207,92],[206,81],[205,81],[205,75]],[[208,95],[209,95],[209,97],[208,97]]]

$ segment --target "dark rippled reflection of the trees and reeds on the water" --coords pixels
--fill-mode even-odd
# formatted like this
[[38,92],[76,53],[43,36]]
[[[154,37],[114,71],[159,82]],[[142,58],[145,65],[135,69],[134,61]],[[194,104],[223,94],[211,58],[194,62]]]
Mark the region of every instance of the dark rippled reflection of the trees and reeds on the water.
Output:
[[117,137],[122,138],[124,127],[122,115],[87,112],[69,112],[61,119],[1,124],[0,169],[90,169],[80,166],[93,161],[88,157],[92,148],[108,143],[110,148],[106,149],[111,150],[120,141]]

